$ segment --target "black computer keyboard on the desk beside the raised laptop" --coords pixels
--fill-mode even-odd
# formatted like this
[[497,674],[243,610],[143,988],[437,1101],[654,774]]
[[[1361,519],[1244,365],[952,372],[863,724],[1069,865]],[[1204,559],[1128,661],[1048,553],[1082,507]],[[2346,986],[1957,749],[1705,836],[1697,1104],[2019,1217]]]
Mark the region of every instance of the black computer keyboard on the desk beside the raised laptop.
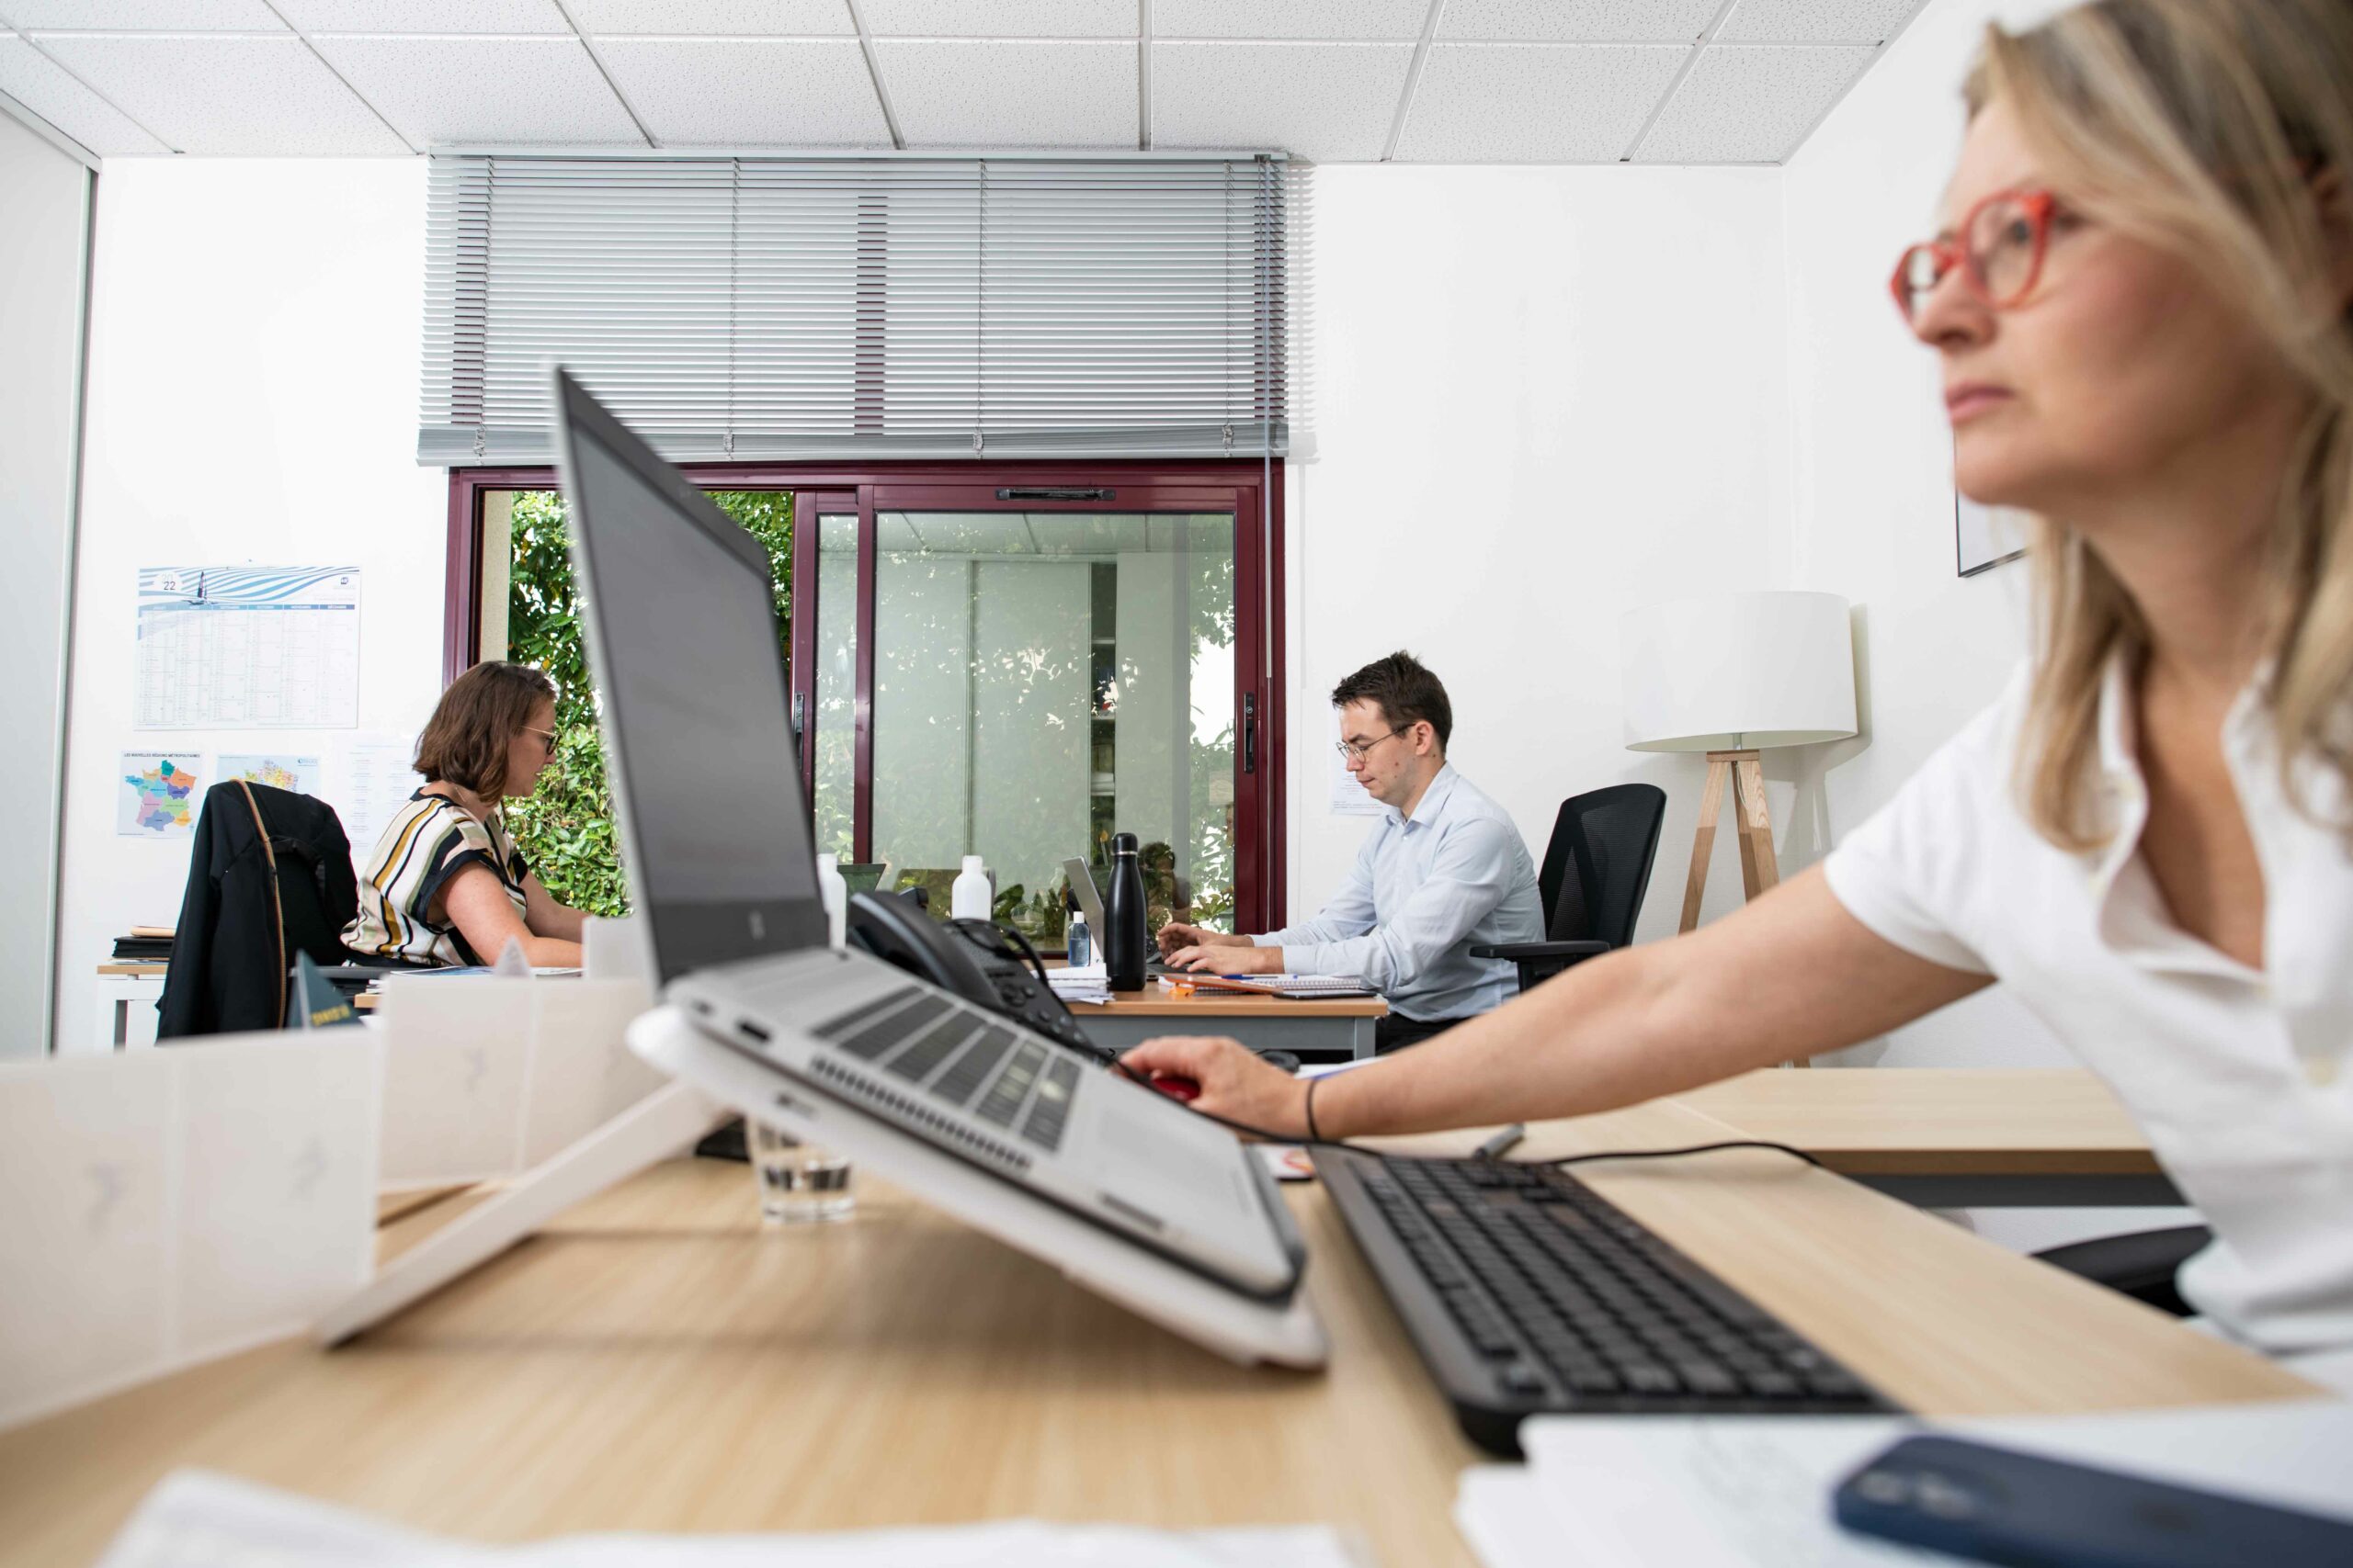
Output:
[[1861,1378],[1565,1171],[1318,1150],[1473,1443],[1527,1415],[1868,1415]]

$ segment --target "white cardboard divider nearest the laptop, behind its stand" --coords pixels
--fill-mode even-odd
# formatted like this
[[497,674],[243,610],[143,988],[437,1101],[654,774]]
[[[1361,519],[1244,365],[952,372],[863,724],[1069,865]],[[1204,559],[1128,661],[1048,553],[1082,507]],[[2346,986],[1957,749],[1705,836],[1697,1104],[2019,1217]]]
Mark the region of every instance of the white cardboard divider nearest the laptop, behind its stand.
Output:
[[661,1088],[624,1032],[642,980],[391,976],[384,1041],[384,1187],[527,1171]]

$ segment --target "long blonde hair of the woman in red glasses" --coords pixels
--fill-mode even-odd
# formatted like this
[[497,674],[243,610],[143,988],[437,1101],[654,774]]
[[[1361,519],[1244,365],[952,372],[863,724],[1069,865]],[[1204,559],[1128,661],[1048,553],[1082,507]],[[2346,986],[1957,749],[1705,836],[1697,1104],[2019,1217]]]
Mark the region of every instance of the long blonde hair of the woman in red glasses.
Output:
[[[2329,287],[2353,181],[2353,5],[2094,0],[2026,33],[1988,28],[1967,99],[1972,115],[2009,106],[2078,209],[2240,301],[2311,393],[2259,628],[2278,766],[2311,809],[2306,762],[2353,780],[2353,317]],[[2045,839],[2092,849],[2101,675],[2146,654],[2146,628],[2064,517],[2035,520],[2033,569],[2019,795]]]

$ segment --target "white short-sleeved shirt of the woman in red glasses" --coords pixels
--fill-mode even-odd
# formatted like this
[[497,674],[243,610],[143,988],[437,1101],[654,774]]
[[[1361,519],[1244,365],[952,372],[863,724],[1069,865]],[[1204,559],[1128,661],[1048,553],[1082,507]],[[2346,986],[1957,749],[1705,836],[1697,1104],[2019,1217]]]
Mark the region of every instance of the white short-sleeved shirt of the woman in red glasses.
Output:
[[[2148,790],[2125,665],[2099,703],[2111,842],[2068,853],[2019,809],[2026,670],[1948,741],[1824,875],[1875,933],[1995,976],[2097,1072],[2214,1229],[2181,1295],[2268,1352],[2353,1347],[2353,856],[2280,785],[2257,686],[2224,759],[2264,867],[2264,971],[2172,922],[2139,853]],[[2322,820],[2341,780],[2308,766]]]

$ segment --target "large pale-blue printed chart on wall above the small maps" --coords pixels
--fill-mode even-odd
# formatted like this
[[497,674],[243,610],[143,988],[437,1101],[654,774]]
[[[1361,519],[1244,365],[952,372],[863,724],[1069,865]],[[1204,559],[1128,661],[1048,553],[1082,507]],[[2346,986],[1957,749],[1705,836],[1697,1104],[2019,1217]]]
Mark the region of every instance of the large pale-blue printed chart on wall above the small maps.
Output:
[[358,567],[141,567],[139,729],[351,729]]

